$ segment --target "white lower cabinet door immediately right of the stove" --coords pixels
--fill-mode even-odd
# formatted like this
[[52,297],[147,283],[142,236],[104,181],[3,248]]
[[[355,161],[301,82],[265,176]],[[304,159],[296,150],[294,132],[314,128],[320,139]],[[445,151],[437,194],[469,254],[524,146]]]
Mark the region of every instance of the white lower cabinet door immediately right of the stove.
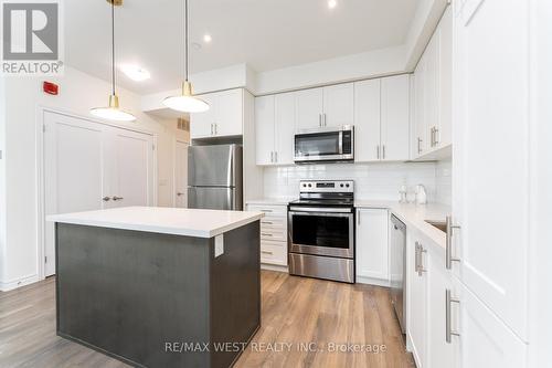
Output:
[[357,276],[389,281],[389,213],[357,211]]

